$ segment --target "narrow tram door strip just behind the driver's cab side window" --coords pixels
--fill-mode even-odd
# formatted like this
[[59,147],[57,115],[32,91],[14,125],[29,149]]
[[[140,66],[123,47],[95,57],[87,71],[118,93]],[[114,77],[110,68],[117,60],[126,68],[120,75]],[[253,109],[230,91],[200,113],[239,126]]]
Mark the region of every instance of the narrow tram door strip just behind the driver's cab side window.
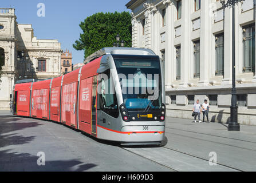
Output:
[[93,77],[92,83],[92,134],[96,134],[96,97],[97,97],[97,75]]

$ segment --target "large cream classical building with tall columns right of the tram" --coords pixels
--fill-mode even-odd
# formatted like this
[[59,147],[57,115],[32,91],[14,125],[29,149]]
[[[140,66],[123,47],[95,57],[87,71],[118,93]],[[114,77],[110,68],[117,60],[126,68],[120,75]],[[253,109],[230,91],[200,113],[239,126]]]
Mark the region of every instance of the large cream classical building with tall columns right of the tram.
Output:
[[[232,9],[219,0],[132,0],[132,46],[152,49],[166,70],[167,115],[191,118],[210,101],[212,121],[230,120]],[[238,121],[256,125],[255,0],[235,6]],[[225,15],[225,16],[223,16]]]

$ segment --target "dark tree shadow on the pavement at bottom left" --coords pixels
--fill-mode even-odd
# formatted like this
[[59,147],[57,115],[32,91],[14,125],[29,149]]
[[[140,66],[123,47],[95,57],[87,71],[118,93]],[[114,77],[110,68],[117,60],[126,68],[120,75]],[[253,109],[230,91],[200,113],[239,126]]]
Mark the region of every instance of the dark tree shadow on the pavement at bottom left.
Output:
[[82,172],[97,166],[86,164],[77,159],[48,161],[47,156],[45,166],[38,166],[37,161],[40,157],[36,156],[37,154],[18,153],[15,152],[15,149],[11,149],[13,145],[22,145],[22,149],[25,149],[24,146],[35,140],[36,136],[24,137],[17,135],[17,133],[7,133],[41,125],[38,122],[23,122],[20,120],[24,120],[24,118],[0,117],[0,172]]

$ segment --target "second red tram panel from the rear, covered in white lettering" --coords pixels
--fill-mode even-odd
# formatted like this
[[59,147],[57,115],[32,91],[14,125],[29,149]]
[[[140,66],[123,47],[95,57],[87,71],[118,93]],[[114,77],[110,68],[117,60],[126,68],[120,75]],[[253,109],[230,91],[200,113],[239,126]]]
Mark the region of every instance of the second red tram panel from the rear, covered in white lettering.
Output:
[[33,83],[31,99],[31,115],[41,119],[49,119],[49,91],[51,80]]

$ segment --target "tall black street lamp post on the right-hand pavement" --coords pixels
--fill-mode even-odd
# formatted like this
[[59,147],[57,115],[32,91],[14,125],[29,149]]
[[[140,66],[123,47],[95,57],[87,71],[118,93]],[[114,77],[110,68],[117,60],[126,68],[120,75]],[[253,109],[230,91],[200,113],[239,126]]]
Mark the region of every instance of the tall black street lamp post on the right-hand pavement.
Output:
[[237,106],[237,89],[235,88],[235,3],[242,2],[245,0],[220,0],[222,3],[223,10],[226,7],[232,7],[232,98],[231,98],[231,107],[230,107],[230,122],[229,122],[229,131],[240,131],[240,125],[238,123],[238,106]]

